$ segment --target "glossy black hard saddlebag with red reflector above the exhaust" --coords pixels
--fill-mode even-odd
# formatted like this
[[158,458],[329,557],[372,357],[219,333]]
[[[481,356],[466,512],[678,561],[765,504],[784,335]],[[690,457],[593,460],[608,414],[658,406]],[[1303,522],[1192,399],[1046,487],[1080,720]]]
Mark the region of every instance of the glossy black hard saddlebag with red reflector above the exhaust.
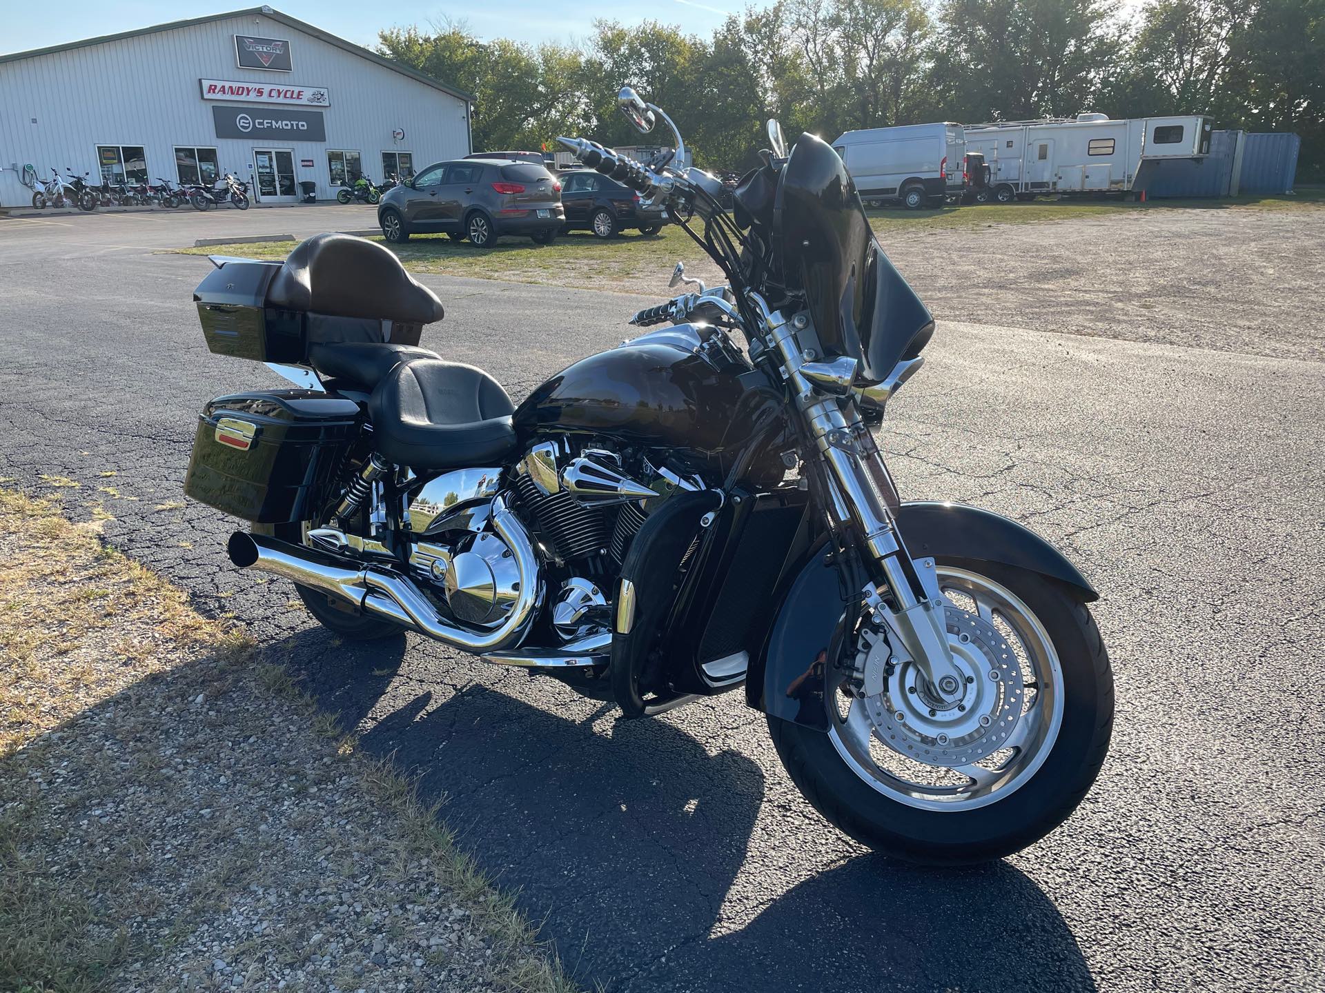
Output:
[[258,524],[306,520],[329,500],[360,430],[359,405],[306,389],[236,393],[197,418],[184,493]]

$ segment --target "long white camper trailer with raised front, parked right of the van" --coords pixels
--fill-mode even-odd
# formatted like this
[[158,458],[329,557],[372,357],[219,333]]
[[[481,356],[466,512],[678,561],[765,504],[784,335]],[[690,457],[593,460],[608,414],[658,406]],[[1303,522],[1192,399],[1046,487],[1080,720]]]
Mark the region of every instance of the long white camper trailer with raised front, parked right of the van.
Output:
[[967,124],[966,147],[984,155],[1000,203],[1039,193],[1125,193],[1145,189],[1146,163],[1208,155],[1212,127],[1199,114],[1126,120],[1080,114]]

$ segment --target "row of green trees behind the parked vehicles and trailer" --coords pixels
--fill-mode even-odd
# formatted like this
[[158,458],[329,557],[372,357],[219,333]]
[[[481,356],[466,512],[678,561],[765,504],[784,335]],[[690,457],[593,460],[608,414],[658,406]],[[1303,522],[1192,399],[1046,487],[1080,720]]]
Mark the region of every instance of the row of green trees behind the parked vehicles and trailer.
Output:
[[714,169],[743,169],[775,117],[836,138],[922,120],[1212,114],[1292,130],[1302,175],[1325,160],[1325,0],[778,0],[704,38],[598,21],[582,44],[482,41],[462,23],[382,32],[378,50],[474,94],[476,150],[558,135],[641,139],[616,111],[635,86]]

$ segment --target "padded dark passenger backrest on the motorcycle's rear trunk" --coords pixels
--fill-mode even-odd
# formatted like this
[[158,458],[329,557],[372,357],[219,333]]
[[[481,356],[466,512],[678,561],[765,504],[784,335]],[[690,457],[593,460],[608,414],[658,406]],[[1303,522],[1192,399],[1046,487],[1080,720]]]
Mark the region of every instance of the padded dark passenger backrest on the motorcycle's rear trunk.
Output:
[[445,311],[395,254],[352,234],[315,234],[301,242],[272,278],[269,307],[338,318],[431,324]]

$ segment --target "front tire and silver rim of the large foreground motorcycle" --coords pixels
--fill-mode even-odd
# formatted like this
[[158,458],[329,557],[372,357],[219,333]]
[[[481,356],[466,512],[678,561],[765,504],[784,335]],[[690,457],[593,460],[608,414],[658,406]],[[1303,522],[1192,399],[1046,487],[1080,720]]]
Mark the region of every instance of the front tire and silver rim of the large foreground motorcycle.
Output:
[[[1016,743],[1014,747],[1000,747],[977,763],[962,765],[962,772],[954,772],[957,767],[926,765],[902,757],[898,745],[885,744],[877,723],[865,724],[861,735],[853,711],[864,707],[868,715],[869,706],[839,690],[832,690],[836,712],[829,714],[827,733],[779,718],[768,718],[768,730],[792,781],[840,830],[908,862],[969,865],[1035,843],[1077,806],[1109,748],[1113,673],[1090,612],[1060,584],[1024,569],[961,559],[939,559],[938,569],[941,587],[958,612],[950,612],[950,632],[953,616],[983,617],[988,602],[1007,605],[992,608],[992,624],[999,625],[1002,618],[998,637],[1006,638],[1007,645],[1015,639],[1022,646],[1016,651],[1014,645],[1014,665],[1020,661],[1019,669],[1026,669],[1030,659],[1036,678],[1023,682],[1003,677],[1002,691],[1020,686],[1022,699],[1014,706],[1026,710],[1007,730],[995,718],[984,733],[1002,732],[1002,740],[1008,745]],[[969,588],[991,591],[991,598],[982,605],[979,596],[971,598],[963,592]],[[1012,617],[1003,614],[1004,609],[1008,614],[1022,609],[1026,613],[1014,624]],[[1008,630],[1014,638],[1007,637]],[[1047,649],[1035,643],[1041,638]],[[974,641],[969,638],[967,643]],[[1035,665],[1037,657],[1043,659],[1041,667]],[[906,665],[901,663],[898,670]],[[900,687],[905,678],[902,674],[894,681],[889,673],[885,690]],[[1030,699],[1026,691],[1032,686],[1035,696]],[[914,688],[912,685],[910,691]],[[890,710],[890,703],[889,696],[882,706]],[[901,711],[906,704],[897,706]],[[890,716],[886,714],[885,719]],[[897,735],[906,739],[906,722],[916,724],[910,714],[904,718],[893,726],[894,740]],[[920,723],[924,722],[921,711]],[[922,744],[917,740],[912,755],[918,755]],[[999,759],[1004,752],[1010,755]],[[917,785],[917,779],[925,780],[925,785]]]

